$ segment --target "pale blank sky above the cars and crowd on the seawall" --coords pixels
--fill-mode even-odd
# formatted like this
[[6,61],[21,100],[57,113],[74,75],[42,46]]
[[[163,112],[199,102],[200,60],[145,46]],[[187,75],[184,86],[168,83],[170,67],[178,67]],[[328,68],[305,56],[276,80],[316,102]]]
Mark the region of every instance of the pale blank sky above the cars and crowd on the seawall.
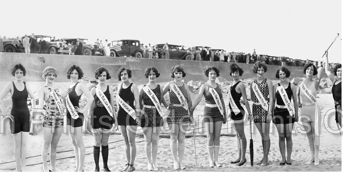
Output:
[[[138,39],[152,45],[321,60],[342,31],[341,0],[0,0],[1,37]],[[341,35],[340,35],[341,36]],[[329,49],[341,61],[342,41]]]

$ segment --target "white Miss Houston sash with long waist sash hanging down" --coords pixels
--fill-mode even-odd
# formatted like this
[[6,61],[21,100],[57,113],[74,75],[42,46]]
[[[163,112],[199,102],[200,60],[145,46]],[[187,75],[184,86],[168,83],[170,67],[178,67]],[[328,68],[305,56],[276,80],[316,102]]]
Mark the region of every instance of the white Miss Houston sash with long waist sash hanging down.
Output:
[[[300,91],[306,95],[308,100],[310,100],[312,102],[312,105],[313,104],[315,105],[315,145],[318,146],[319,145],[319,135],[321,134],[321,129],[320,129],[321,119],[319,118],[321,116],[320,107],[317,103],[316,98],[313,96],[311,91],[306,87],[304,82],[302,82],[299,85],[299,88],[300,88]],[[303,105],[308,105],[308,104],[303,103]],[[311,105],[311,103],[310,103],[310,105]]]

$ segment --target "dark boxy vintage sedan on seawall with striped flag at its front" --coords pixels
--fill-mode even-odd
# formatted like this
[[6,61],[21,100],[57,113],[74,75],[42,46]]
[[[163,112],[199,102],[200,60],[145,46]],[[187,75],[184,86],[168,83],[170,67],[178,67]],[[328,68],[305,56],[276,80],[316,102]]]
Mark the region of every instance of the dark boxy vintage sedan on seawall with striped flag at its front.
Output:
[[[118,48],[118,46],[120,48]],[[141,44],[139,40],[122,39],[112,41],[112,46],[110,47],[110,56],[129,56],[142,58],[143,50],[141,49]]]

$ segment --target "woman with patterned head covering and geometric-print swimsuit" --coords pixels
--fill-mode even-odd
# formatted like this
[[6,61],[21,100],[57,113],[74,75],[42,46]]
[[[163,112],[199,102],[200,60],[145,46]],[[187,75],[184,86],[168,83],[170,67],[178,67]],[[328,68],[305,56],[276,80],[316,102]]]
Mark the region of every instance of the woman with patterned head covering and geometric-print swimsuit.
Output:
[[[39,88],[38,98],[38,112],[45,112],[43,119],[43,146],[42,146],[42,160],[43,160],[43,171],[56,171],[55,160],[56,160],[56,148],[58,141],[63,131],[63,115],[60,113],[62,107],[62,95],[58,89],[53,85],[53,82],[57,78],[57,70],[54,67],[45,67],[43,70],[43,79],[45,79],[45,85]],[[53,91],[52,91],[53,90]],[[54,97],[51,96],[50,92],[55,92],[59,100],[59,105],[56,104]],[[47,106],[46,111],[43,111],[44,102]],[[62,111],[63,112],[63,111]],[[48,149],[51,145],[50,156],[50,169],[47,166]]]

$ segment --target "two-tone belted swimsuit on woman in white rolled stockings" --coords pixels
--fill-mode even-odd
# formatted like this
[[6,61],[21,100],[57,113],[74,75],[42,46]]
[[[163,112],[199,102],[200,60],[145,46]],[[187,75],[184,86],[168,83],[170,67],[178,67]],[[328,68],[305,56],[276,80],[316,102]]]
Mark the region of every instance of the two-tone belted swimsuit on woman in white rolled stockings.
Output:
[[[210,88],[212,88],[208,83],[206,85],[209,87],[207,91],[204,93],[205,97],[205,103],[207,104],[216,104],[215,100],[213,99],[212,94],[210,93]],[[218,93],[219,98],[223,98],[223,93],[221,89],[219,88],[218,84],[216,84],[217,87],[214,88],[214,90]],[[204,122],[218,122],[218,121],[223,121],[224,117],[220,113],[218,107],[208,107],[204,106],[204,117],[203,121]]]

